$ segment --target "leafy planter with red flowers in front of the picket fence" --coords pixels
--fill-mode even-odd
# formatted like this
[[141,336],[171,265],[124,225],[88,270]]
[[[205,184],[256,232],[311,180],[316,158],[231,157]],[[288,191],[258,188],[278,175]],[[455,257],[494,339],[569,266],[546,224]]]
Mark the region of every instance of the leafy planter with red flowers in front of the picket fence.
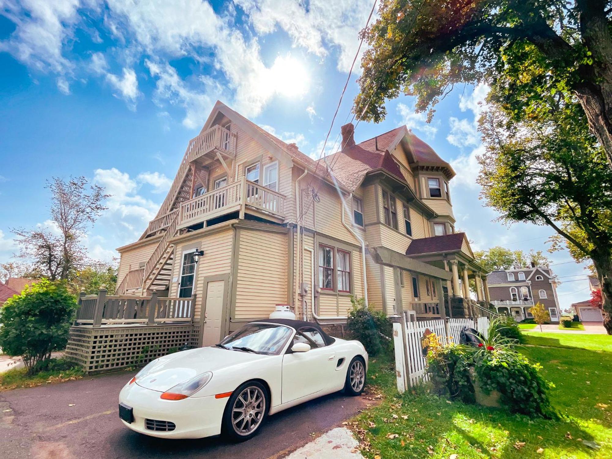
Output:
[[[465,402],[504,407],[529,416],[556,417],[548,399],[553,385],[540,375],[540,364],[517,352],[515,340],[499,334],[502,326],[498,319],[491,321],[488,338],[476,346],[438,343],[438,348],[430,350],[428,371],[435,390]],[[449,390],[452,387],[461,390],[453,393]]]

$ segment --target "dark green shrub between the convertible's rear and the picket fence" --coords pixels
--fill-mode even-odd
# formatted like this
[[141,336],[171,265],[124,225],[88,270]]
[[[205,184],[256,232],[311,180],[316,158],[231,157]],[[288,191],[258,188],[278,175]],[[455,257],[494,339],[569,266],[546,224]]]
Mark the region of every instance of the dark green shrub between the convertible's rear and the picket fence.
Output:
[[346,329],[352,338],[361,341],[370,356],[389,351],[392,345],[392,324],[382,311],[365,307],[365,299],[351,296],[353,309],[348,313]]

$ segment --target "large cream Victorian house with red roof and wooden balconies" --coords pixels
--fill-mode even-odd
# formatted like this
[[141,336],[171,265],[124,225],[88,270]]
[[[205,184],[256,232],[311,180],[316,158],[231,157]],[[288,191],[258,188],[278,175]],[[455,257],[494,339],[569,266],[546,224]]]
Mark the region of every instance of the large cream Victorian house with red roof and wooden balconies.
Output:
[[[316,162],[217,102],[157,216],[118,249],[116,294],[81,298],[69,354],[96,370],[153,337],[159,352],[211,345],[278,304],[342,324],[351,296],[388,315],[472,315],[470,297],[488,302],[488,290],[455,233],[455,172],[404,126],[359,144],[353,131]],[[85,355],[104,333],[106,348]],[[113,333],[131,350],[108,357]]]

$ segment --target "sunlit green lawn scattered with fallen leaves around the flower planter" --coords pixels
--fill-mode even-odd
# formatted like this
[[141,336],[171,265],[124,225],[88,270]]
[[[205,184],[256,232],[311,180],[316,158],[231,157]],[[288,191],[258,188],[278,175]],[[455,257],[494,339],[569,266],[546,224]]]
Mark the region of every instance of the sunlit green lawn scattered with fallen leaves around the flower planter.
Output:
[[[521,352],[539,361],[545,378],[555,384],[550,396],[561,419],[529,419],[504,409],[450,402],[424,389],[400,396],[392,363],[374,359],[369,371],[370,383],[375,385],[371,390],[379,390],[383,401],[353,424],[359,438],[370,442],[364,455],[383,459],[448,459],[454,453],[461,459],[612,457],[612,337],[551,333],[529,336],[528,341],[532,346]],[[553,344],[554,348],[543,347]],[[601,449],[591,449],[582,440],[594,440]]]

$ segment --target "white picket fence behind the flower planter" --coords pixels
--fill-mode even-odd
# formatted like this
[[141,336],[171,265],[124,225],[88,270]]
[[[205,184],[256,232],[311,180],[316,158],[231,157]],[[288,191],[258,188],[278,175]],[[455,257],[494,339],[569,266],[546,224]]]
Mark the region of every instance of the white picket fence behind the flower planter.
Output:
[[453,342],[459,343],[461,330],[477,329],[486,337],[489,327],[487,317],[479,317],[476,321],[449,318],[415,321],[406,314],[402,317],[395,316],[392,319],[394,321],[395,374],[397,389],[400,393],[408,387],[414,387],[428,380],[427,360],[422,345],[427,330],[435,333],[444,343],[448,343],[451,337]]

